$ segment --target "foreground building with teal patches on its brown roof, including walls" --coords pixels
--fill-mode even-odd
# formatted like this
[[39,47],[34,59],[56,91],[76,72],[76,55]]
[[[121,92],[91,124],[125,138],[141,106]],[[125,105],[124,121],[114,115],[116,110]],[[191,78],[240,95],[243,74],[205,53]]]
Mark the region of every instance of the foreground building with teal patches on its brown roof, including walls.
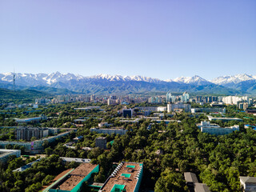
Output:
[[142,174],[143,163],[121,162],[98,192],[138,192]]

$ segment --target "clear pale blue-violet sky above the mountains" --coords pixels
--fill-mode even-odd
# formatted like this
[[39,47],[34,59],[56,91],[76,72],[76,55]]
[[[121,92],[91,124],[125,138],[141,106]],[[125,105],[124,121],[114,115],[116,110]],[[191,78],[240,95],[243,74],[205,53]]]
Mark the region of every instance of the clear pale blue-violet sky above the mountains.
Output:
[[2,0],[0,73],[256,74],[255,0]]

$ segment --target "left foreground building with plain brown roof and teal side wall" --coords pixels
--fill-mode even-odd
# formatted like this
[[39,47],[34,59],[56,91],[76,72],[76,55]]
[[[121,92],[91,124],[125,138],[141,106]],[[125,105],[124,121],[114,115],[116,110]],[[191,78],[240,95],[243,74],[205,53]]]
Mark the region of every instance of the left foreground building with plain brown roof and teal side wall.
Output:
[[92,174],[98,173],[98,170],[98,165],[82,163],[76,169],[54,182],[50,189],[47,188],[44,192],[82,192],[82,184],[88,181]]

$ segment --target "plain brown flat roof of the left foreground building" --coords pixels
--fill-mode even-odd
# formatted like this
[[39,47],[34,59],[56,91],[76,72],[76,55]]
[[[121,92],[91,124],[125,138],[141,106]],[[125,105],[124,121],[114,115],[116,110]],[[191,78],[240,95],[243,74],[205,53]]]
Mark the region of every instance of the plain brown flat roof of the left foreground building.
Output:
[[77,186],[87,174],[90,174],[96,166],[97,165],[90,163],[82,163],[70,173],[70,177],[67,178],[66,181],[62,182],[62,184],[58,186],[58,190],[73,190],[73,188]]

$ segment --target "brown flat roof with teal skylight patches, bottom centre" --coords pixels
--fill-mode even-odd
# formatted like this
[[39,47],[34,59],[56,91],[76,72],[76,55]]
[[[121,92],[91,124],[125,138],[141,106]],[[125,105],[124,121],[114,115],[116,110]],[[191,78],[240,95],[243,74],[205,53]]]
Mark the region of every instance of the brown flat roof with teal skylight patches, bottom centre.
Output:
[[122,166],[120,166],[118,172],[111,174],[101,190],[111,191],[114,185],[122,185],[126,189],[126,192],[133,192],[138,182],[136,177],[141,172],[141,165],[142,163],[138,162],[122,162]]

